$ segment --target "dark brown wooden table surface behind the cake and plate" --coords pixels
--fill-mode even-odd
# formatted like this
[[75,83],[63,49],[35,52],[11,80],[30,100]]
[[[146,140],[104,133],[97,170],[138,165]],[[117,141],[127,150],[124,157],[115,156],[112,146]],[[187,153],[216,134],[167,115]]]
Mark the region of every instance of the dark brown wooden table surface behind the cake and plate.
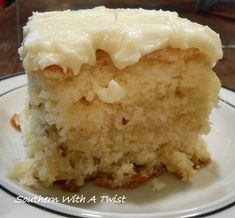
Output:
[[[144,7],[177,11],[181,17],[208,25],[221,36],[224,57],[214,67],[224,87],[235,89],[235,20],[209,13],[198,13],[196,0],[172,1],[76,1],[76,0],[34,0],[18,1],[0,11],[0,77],[23,71],[17,49],[22,40],[22,27],[27,22],[32,11],[63,10],[67,8],[88,8],[103,3],[108,7]],[[169,3],[170,2],[170,3]],[[17,19],[18,18],[18,19]],[[17,25],[18,24],[18,25]],[[17,28],[18,26],[18,28]]]

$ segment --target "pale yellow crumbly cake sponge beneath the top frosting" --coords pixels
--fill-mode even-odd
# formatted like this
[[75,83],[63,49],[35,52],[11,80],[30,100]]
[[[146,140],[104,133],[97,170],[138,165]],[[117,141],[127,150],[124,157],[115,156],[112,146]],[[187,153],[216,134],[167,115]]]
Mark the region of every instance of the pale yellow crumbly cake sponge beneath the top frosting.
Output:
[[[201,134],[209,132],[220,82],[198,49],[161,49],[123,70],[98,51],[96,65],[76,76],[54,65],[28,77],[29,158],[13,171],[27,185],[93,178],[132,187],[163,169],[186,180],[210,161]],[[96,88],[110,89],[112,80],[125,96],[106,103]]]

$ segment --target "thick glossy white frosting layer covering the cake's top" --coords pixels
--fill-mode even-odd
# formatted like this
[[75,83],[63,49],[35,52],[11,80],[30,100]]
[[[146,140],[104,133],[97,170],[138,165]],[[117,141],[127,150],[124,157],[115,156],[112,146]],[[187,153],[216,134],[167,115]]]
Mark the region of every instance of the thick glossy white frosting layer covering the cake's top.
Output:
[[27,72],[56,64],[77,74],[82,64],[95,64],[97,49],[123,69],[166,46],[198,48],[211,66],[222,58],[218,34],[175,12],[105,7],[34,13],[24,27],[19,53]]

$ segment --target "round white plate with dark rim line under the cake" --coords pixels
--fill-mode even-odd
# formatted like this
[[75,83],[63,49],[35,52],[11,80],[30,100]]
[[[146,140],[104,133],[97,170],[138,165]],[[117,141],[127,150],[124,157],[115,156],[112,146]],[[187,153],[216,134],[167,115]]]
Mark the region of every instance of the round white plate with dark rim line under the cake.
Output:
[[[233,206],[235,202],[234,92],[221,89],[220,108],[213,110],[210,117],[212,131],[205,137],[213,161],[201,169],[190,183],[182,183],[171,175],[164,175],[160,179],[168,187],[156,193],[152,192],[151,182],[134,190],[106,190],[90,183],[77,193],[78,196],[83,195],[86,198],[86,203],[77,201],[72,204],[62,203],[62,199],[75,196],[76,193],[66,193],[56,187],[31,190],[6,176],[7,169],[25,155],[20,133],[9,124],[12,113],[20,112],[23,108],[25,84],[25,75],[0,81],[0,187],[2,189],[0,197],[6,195],[3,191],[14,196],[15,198],[11,199],[12,205],[17,196],[57,197],[58,203],[35,202],[33,205],[60,215],[82,217],[191,217],[218,213]],[[101,203],[101,196],[114,197],[116,194],[118,197],[125,196],[127,198],[125,203]],[[87,203],[92,196],[95,196],[96,203],[93,201]],[[9,204],[8,208],[11,208]],[[25,207],[25,204],[21,205]],[[0,211],[7,210],[6,207],[0,205]],[[39,211],[36,208],[34,210]]]

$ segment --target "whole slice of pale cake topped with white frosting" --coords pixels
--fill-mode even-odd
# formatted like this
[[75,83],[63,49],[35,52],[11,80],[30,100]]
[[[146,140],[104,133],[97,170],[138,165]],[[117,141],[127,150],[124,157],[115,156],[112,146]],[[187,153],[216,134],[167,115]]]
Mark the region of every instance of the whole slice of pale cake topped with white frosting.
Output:
[[27,159],[12,178],[135,187],[164,171],[187,180],[210,162],[201,136],[217,104],[212,67],[222,49],[209,27],[144,9],[34,13],[19,53]]

